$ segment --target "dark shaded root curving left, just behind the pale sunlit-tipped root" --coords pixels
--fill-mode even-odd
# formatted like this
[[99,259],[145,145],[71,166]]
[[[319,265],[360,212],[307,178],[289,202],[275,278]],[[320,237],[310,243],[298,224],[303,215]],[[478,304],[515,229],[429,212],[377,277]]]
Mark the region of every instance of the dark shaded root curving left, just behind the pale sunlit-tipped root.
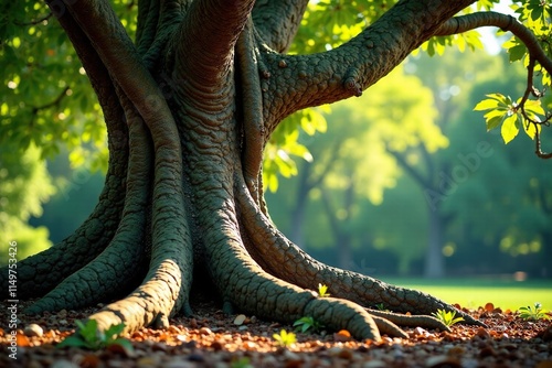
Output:
[[[126,101],[128,102],[128,101]],[[25,312],[78,309],[110,299],[128,288],[129,280],[142,263],[151,176],[151,143],[141,119],[127,104],[130,154],[128,164],[127,196],[123,219],[109,246],[92,262],[61,282],[53,291],[30,306]],[[85,247],[84,247],[85,248]]]

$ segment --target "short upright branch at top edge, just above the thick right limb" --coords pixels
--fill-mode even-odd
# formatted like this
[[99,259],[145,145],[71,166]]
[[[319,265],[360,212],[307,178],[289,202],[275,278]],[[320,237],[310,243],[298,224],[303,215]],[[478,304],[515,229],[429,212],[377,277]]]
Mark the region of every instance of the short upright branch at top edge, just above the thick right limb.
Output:
[[261,0],[253,9],[253,21],[263,41],[277,52],[285,52],[297,32],[308,0]]

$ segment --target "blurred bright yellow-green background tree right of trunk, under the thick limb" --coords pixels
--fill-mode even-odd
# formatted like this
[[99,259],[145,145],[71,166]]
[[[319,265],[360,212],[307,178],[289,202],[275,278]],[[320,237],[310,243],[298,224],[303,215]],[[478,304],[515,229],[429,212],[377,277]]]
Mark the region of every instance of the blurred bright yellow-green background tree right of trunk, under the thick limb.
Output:
[[[392,102],[389,96],[393,96]],[[447,144],[434,125],[432,98],[417,77],[405,76],[397,68],[367,96],[333,105],[331,115],[327,115],[332,122],[327,133],[316,140],[304,139],[315,160],[300,165],[297,178],[289,184],[294,193],[280,190],[267,197],[269,204],[287,202],[285,213],[274,214],[276,224],[284,226],[290,239],[301,247],[306,245],[305,231],[311,243],[336,245],[336,266],[350,269],[353,242],[359,242],[351,228],[364,232],[372,228],[372,218],[360,216],[359,204],[363,198],[381,204],[383,192],[394,187],[400,174],[385,144],[405,151],[424,141],[432,152]],[[307,205],[315,201],[320,205],[307,215]],[[411,252],[404,249],[407,247],[395,249],[397,256],[410,257]]]

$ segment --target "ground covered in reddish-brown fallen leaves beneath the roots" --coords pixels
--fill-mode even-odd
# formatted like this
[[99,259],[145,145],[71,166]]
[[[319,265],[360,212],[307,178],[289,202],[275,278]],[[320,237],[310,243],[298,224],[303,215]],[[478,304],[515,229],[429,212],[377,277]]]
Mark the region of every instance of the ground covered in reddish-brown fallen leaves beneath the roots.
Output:
[[384,336],[380,343],[350,339],[342,332],[296,333],[297,342],[284,348],[273,335],[291,332],[293,326],[254,316],[236,318],[202,303],[192,305],[193,317],[172,318],[168,329],[142,328],[126,336],[132,345],[128,351],[118,346],[96,351],[55,346],[71,335],[75,320],[86,318],[100,305],[36,316],[18,312],[17,348],[10,349],[14,329],[9,325],[9,306],[3,303],[0,311],[0,367],[552,368],[552,322],[527,321],[518,312],[495,310],[490,304],[469,312],[488,328],[461,324],[452,326],[452,333],[405,328],[410,338]]

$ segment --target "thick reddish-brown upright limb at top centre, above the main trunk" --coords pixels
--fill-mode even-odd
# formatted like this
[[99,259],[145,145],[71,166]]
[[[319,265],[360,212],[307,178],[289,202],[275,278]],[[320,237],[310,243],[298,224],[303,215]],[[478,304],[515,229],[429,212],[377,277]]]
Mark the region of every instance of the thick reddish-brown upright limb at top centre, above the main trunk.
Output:
[[254,0],[195,0],[178,34],[176,71],[205,90],[225,84]]

